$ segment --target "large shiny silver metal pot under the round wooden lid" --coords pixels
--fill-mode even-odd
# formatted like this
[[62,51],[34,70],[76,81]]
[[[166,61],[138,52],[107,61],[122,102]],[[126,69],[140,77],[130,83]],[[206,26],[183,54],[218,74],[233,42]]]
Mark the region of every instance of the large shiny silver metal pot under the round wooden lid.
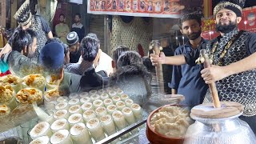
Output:
[[186,132],[185,144],[252,144],[256,143],[250,126],[237,114],[229,118],[198,118]]

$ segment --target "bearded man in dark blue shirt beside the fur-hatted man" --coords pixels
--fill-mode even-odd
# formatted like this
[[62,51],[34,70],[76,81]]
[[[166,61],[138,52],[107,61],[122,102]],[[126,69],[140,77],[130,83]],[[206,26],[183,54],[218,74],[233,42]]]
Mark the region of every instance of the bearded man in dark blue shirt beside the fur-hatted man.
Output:
[[[199,50],[206,47],[206,40],[201,35],[201,17],[199,14],[190,13],[182,15],[180,22],[181,33],[189,39],[185,45],[179,46],[174,55],[186,55],[192,51],[199,53]],[[201,77],[202,65],[190,66],[183,64],[173,67],[173,76],[170,84],[172,94],[182,94],[185,100],[182,104],[196,106],[201,104],[208,86]]]

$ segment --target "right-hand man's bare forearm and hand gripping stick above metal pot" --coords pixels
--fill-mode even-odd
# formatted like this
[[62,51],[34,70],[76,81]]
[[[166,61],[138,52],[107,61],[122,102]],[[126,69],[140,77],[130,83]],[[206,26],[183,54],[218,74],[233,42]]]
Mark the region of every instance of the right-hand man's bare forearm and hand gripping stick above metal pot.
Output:
[[256,34],[252,34],[246,41],[246,48],[250,56],[227,66],[210,66],[201,71],[202,78],[207,84],[219,81],[232,74],[256,69]]

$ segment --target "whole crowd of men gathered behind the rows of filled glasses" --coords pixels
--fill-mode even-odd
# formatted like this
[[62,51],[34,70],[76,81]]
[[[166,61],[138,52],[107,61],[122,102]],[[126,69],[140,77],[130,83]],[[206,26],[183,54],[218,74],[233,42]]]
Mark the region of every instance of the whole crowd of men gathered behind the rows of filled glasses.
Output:
[[[121,45],[114,48],[113,60],[101,50],[96,34],[85,36],[84,31],[78,30],[83,28],[81,23],[78,24],[81,15],[76,14],[76,23],[70,32],[63,23],[65,16],[61,14],[60,24],[55,27],[58,37],[52,36],[50,26],[42,17],[30,13],[29,1],[21,6],[14,18],[19,26],[0,54],[12,74],[20,77],[28,74],[54,75],[58,78],[62,94],[119,86],[135,99],[138,93],[134,89],[140,89],[135,102],[141,105],[149,98],[150,79],[141,80],[150,78],[150,74],[141,56]],[[38,20],[34,21],[34,18]]]

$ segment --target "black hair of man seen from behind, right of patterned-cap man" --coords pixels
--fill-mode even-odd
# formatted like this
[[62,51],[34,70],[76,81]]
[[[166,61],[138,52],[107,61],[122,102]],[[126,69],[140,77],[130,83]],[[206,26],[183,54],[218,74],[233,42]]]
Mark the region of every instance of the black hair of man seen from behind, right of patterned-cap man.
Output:
[[98,54],[99,41],[97,38],[86,36],[80,44],[82,58],[85,61],[93,62]]

